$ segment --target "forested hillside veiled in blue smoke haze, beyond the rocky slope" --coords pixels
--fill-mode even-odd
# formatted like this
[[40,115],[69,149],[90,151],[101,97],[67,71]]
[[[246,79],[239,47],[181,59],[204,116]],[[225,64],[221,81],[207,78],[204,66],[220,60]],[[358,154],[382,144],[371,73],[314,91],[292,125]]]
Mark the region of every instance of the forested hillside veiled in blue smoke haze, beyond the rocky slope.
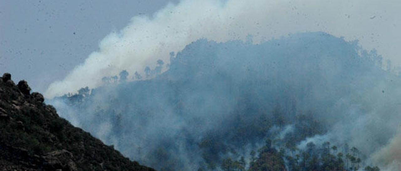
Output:
[[375,154],[397,131],[401,82],[381,56],[323,32],[251,39],[198,40],[144,76],[122,71],[49,102],[158,170],[373,171],[391,162]]

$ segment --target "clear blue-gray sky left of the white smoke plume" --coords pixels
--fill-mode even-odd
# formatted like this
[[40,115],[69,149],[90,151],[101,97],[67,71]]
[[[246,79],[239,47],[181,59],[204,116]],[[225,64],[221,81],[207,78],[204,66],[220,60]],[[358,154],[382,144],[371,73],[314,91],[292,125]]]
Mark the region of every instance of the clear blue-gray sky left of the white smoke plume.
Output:
[[107,34],[168,2],[178,0],[0,0],[0,73],[44,91]]

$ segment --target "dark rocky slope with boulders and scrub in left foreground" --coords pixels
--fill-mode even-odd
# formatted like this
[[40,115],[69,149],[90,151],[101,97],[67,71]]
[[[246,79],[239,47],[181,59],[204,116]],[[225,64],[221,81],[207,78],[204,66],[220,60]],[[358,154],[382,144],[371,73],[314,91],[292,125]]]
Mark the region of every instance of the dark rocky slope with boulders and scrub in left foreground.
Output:
[[0,171],[152,171],[130,161],[43,103],[24,80],[0,77]]

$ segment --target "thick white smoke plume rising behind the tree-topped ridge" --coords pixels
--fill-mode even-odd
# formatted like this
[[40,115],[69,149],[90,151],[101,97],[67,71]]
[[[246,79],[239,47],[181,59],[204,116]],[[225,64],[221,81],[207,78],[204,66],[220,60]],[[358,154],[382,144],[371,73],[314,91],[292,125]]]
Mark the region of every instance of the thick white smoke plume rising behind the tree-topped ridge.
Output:
[[103,76],[118,75],[121,70],[132,76],[156,65],[158,59],[168,63],[169,52],[180,51],[199,38],[220,42],[244,40],[251,34],[257,43],[289,33],[324,31],[358,39],[365,48],[377,48],[392,57],[397,43],[401,44],[401,35],[395,34],[397,16],[392,15],[400,5],[396,0],[182,0],[151,17],[135,16],[126,28],[106,36],[99,51],[51,84],[45,96],[98,87]]

